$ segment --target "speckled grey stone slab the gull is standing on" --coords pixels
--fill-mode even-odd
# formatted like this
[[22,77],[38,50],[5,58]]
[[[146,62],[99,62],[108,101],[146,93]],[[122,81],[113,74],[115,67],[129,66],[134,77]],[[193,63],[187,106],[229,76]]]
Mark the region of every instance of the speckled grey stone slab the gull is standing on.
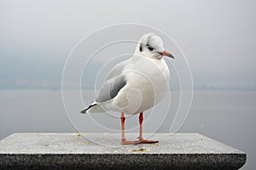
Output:
[[[0,141],[2,169],[238,169],[246,154],[198,133],[157,133],[159,144],[107,147],[119,133],[14,133]],[[137,134],[127,133],[136,139]]]

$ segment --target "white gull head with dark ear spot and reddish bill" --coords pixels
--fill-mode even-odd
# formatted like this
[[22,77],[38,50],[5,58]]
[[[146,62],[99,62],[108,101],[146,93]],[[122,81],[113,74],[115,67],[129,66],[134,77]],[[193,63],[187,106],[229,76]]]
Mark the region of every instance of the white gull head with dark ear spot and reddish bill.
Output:
[[141,37],[136,54],[142,54],[151,59],[162,59],[163,56],[174,59],[173,55],[164,48],[163,40],[154,33],[148,33]]

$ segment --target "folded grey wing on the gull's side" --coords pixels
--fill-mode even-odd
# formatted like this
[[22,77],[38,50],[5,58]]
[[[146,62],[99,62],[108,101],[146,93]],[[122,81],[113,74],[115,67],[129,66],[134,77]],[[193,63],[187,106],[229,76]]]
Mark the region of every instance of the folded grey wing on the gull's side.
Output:
[[96,102],[101,103],[113,99],[119,94],[120,89],[125,87],[126,77],[122,74],[127,60],[115,65],[113,69],[108,72],[106,82],[102,84],[99,94],[96,97]]

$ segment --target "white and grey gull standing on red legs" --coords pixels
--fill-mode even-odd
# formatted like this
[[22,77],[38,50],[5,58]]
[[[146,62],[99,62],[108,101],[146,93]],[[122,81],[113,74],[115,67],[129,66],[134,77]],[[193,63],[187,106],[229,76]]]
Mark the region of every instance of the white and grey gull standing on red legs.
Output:
[[[102,83],[96,99],[81,113],[105,111],[121,112],[121,144],[154,144],[158,141],[143,139],[143,112],[164,98],[169,89],[170,71],[164,56],[174,59],[166,51],[163,40],[155,33],[140,38],[131,58],[115,65]],[[125,139],[125,115],[139,113],[139,137]]]

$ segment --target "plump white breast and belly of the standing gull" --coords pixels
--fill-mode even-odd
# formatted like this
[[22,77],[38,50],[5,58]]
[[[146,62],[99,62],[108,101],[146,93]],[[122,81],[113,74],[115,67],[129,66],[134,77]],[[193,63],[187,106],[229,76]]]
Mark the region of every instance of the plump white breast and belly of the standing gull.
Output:
[[112,101],[113,111],[136,114],[160,102],[169,88],[170,71],[164,59],[133,56],[124,71],[127,84]]

